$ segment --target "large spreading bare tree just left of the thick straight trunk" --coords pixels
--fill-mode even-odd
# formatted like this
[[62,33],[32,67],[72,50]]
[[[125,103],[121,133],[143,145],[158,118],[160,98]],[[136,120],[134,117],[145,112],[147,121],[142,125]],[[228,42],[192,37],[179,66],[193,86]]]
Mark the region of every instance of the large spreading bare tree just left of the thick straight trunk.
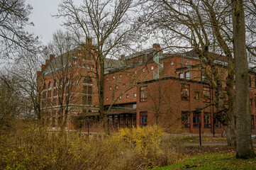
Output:
[[[235,146],[230,8],[221,1],[183,0],[152,1],[146,8],[150,11],[145,20],[149,20],[149,26],[153,26],[152,30],[157,33],[156,38],[162,40],[166,48],[196,52],[201,62],[201,74],[215,92],[215,117],[226,130],[228,145]],[[223,69],[228,69],[227,77],[221,74]],[[228,95],[228,106],[225,94]]]

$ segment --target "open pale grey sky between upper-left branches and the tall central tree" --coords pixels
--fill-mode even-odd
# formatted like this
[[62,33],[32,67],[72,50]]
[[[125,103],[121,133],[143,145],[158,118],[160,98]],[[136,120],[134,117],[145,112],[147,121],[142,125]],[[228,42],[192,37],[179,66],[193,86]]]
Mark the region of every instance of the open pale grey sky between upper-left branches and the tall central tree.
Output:
[[46,45],[52,39],[52,33],[62,28],[60,19],[51,15],[57,13],[57,5],[61,0],[26,0],[26,4],[33,6],[33,13],[29,18],[35,26],[30,26],[27,30],[40,36],[40,40]]

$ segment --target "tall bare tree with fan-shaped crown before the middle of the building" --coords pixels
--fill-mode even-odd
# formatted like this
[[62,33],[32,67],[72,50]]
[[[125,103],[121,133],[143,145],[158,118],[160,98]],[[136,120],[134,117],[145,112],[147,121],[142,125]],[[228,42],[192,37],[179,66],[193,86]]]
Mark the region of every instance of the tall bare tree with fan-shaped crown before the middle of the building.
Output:
[[[96,45],[88,47],[96,63],[95,79],[99,94],[99,115],[106,126],[104,112],[104,72],[107,57],[113,57],[123,47],[128,47],[136,26],[131,16],[135,4],[129,1],[84,0],[77,6],[72,0],[63,0],[57,17],[65,18],[63,24],[72,33],[94,38]],[[130,14],[130,15],[128,15]],[[93,52],[91,51],[93,50]],[[105,128],[106,129],[106,128]]]

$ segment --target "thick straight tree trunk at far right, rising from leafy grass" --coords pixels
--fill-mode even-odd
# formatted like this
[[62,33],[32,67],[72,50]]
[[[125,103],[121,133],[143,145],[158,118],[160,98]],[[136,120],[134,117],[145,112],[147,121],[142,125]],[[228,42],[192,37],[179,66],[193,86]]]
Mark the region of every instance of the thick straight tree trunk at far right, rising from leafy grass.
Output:
[[233,48],[235,57],[235,106],[237,115],[237,158],[255,157],[251,137],[248,66],[245,47],[245,13],[243,0],[232,0]]

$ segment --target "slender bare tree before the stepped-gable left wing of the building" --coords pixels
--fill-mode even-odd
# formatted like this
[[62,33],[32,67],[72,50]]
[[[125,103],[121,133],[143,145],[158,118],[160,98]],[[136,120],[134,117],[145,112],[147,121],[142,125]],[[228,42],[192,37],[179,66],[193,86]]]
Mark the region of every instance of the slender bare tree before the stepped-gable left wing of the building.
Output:
[[[55,55],[50,55],[55,54]],[[52,118],[52,125],[58,123],[61,131],[67,127],[71,113],[79,109],[81,96],[79,81],[82,74],[77,63],[77,43],[71,34],[58,30],[48,45],[45,69],[38,77],[41,89],[41,106],[46,117]],[[57,119],[57,120],[56,120]]]

